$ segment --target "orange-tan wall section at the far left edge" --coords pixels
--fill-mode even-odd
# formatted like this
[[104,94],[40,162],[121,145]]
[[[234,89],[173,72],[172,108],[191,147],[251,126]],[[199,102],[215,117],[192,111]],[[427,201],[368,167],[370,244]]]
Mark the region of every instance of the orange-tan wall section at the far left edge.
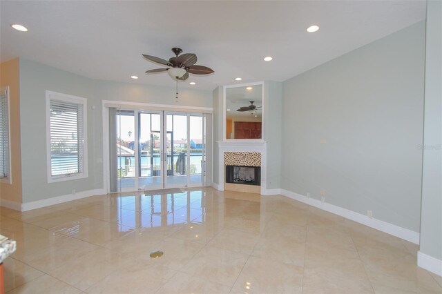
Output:
[[12,184],[0,183],[0,198],[21,204],[21,143],[20,143],[20,77],[19,59],[0,63],[0,87],[9,86],[9,119]]

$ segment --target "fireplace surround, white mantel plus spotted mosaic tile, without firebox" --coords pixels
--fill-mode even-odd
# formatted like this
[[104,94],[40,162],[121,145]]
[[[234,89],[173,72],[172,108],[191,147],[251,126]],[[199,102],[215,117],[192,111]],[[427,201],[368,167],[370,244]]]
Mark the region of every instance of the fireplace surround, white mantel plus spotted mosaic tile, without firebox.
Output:
[[261,186],[256,186],[256,193],[261,193],[266,188],[266,150],[265,141],[222,141],[217,142],[219,147],[218,162],[219,178],[218,190],[225,188],[225,166],[260,166]]

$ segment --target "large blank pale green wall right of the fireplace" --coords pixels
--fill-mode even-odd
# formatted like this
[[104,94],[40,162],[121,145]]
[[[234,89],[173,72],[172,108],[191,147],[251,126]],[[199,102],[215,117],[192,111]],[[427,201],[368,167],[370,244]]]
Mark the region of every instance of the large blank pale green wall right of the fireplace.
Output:
[[281,188],[419,232],[424,38],[421,21],[283,83]]

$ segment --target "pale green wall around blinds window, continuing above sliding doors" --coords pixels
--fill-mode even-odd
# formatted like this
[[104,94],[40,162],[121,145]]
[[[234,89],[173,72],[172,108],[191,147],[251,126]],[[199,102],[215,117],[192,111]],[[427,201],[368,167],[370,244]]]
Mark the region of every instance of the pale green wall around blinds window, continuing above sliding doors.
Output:
[[[173,81],[171,81],[173,84]],[[88,177],[48,184],[46,172],[46,90],[88,99]],[[20,59],[21,166],[23,203],[104,188],[102,101],[211,107],[211,91],[97,81]],[[95,106],[95,110],[92,109]]]

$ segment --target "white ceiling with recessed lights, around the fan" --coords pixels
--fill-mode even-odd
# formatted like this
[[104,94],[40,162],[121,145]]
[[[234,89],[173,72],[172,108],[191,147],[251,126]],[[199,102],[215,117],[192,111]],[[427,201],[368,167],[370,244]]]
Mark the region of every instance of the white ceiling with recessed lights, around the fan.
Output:
[[[23,57],[93,79],[175,86],[142,54],[193,52],[212,90],[284,81],[425,18],[425,1],[1,1],[1,61]],[[21,23],[28,32],[10,27]],[[305,30],[318,24],[320,30]],[[262,59],[271,55],[273,61]],[[132,80],[131,75],[140,79]],[[234,81],[242,77],[242,81]],[[195,81],[196,86],[190,86]]]

